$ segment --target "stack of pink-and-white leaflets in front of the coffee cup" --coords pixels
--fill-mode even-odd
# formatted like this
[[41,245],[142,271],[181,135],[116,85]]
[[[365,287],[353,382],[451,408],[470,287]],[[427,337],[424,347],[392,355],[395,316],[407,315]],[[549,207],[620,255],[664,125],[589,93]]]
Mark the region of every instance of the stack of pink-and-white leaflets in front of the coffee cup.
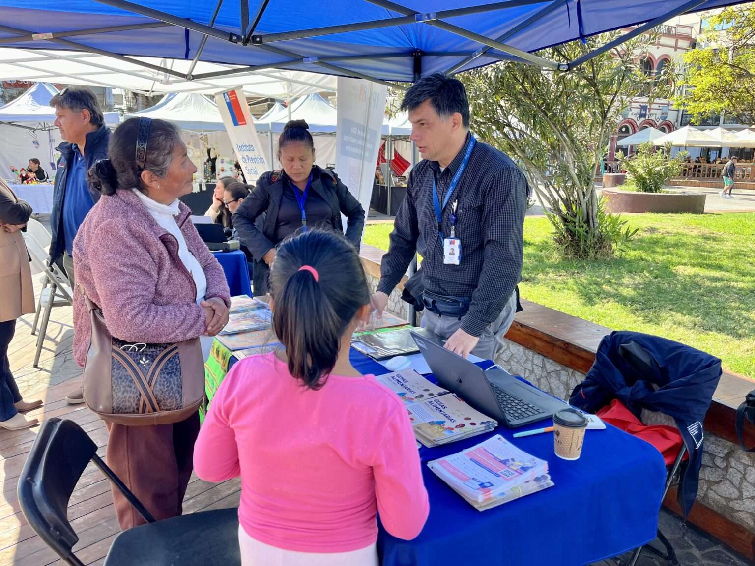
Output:
[[478,511],[553,487],[548,463],[501,435],[428,462],[427,467]]

